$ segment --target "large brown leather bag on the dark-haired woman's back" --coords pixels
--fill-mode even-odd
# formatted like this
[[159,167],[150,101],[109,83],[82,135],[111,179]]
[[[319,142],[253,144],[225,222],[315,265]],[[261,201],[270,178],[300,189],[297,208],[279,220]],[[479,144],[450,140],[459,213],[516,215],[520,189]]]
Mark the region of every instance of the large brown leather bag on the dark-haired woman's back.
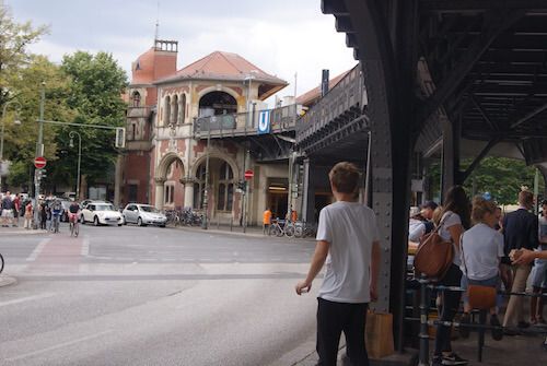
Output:
[[452,241],[445,240],[439,235],[442,225],[451,215],[452,213],[439,223],[439,226],[431,233],[426,234],[420,239],[420,245],[414,257],[415,270],[437,281],[444,278],[454,259],[454,247],[452,246]]

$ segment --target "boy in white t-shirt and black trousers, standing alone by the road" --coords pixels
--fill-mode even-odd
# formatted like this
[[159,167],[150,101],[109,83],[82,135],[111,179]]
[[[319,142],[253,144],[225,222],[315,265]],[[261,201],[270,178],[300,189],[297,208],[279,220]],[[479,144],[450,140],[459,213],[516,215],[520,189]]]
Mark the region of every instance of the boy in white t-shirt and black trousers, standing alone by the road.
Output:
[[357,202],[360,174],[354,164],[338,163],[328,177],[336,202],[319,213],[317,245],[310,271],[295,291],[299,295],[309,292],[326,263],[317,296],[317,365],[336,365],[341,332],[351,365],[369,365],[364,344],[366,309],[369,303],[377,298],[381,261],[376,215]]

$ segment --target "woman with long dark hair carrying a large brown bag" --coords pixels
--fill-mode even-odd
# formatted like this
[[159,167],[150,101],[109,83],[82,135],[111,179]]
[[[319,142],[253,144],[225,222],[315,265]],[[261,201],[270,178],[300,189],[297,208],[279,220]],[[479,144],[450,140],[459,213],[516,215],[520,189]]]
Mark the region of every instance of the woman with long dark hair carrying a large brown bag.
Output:
[[[441,217],[437,223],[439,235],[446,241],[452,241],[454,246],[454,259],[446,274],[439,281],[440,285],[459,286],[462,281],[462,271],[459,270],[461,248],[459,237],[465,229],[470,227],[469,199],[462,186],[454,186],[446,192]],[[443,291],[441,294],[442,307],[439,320],[452,322],[459,308],[459,292]],[[459,357],[452,351],[451,327],[439,323],[434,342],[434,353],[432,366],[441,365],[465,365],[467,361]]]

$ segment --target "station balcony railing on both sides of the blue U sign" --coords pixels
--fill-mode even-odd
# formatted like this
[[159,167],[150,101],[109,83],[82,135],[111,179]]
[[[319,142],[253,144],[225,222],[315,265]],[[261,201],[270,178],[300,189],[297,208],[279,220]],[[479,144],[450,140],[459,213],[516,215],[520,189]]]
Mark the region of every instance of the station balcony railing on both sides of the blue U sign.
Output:
[[[269,110],[270,132],[294,131],[296,105]],[[211,138],[242,137],[258,134],[258,119],[263,110],[249,110],[240,114],[226,114],[194,119],[194,137]]]

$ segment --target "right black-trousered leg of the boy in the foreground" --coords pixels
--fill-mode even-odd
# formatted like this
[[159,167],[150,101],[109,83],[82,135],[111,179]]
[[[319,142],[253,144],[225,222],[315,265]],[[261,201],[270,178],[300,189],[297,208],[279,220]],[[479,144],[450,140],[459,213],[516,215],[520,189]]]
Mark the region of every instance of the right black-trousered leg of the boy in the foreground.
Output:
[[348,358],[352,366],[369,366],[369,355],[364,344],[368,304],[348,304],[348,308],[349,314],[344,327]]

